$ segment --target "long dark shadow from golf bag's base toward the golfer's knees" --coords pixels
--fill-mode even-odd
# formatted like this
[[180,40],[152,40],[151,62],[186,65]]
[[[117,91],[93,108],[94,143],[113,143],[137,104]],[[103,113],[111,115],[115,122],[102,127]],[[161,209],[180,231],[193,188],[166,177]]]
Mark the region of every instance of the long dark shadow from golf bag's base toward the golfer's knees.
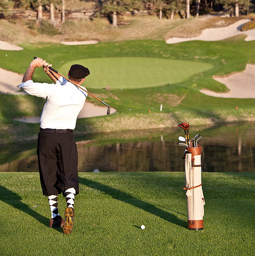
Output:
[[181,220],[177,218],[175,215],[159,209],[155,205],[139,200],[133,197],[132,195],[128,195],[127,193],[122,192],[118,189],[115,189],[115,188],[106,186],[104,184],[101,184],[99,182],[95,182],[93,180],[82,178],[82,177],[79,177],[79,182],[87,187],[91,187],[93,189],[97,189],[101,192],[104,192],[107,195],[110,195],[112,198],[115,198],[122,202],[138,207],[142,210],[145,210],[146,212],[150,212],[151,214],[156,215],[168,222],[187,228],[187,223],[184,220]]

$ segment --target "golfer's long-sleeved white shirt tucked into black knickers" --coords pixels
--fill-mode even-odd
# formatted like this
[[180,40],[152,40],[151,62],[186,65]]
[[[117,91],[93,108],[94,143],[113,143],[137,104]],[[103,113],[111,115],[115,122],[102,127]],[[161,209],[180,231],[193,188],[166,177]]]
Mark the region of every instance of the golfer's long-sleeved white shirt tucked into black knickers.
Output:
[[87,92],[63,77],[60,77],[56,84],[35,83],[28,80],[19,87],[30,95],[46,99],[41,113],[41,128],[72,130],[75,128],[77,116],[87,99]]

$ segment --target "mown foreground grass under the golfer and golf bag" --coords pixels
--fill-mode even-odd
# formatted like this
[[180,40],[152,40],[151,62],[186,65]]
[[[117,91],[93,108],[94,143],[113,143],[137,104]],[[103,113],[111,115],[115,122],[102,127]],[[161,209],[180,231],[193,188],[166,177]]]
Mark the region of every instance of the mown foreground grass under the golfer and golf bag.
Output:
[[[74,230],[64,236],[47,227],[38,173],[0,173],[0,254],[254,255],[252,173],[202,173],[202,231],[187,229],[184,172],[79,173],[79,179]],[[60,195],[62,215],[64,207]]]

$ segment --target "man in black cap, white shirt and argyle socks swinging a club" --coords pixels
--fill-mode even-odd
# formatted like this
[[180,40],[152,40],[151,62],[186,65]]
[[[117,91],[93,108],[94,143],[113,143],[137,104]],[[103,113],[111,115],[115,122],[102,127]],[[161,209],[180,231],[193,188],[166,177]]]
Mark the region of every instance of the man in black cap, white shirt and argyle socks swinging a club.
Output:
[[[42,66],[55,83],[33,82],[35,68]],[[49,227],[63,227],[64,233],[70,234],[74,227],[74,196],[79,193],[78,154],[73,130],[87,93],[49,67],[51,64],[45,60],[34,59],[19,87],[30,95],[46,99],[37,143],[41,187],[51,209]],[[78,85],[84,82],[87,75],[89,69],[79,64],[72,65],[68,72],[68,78]],[[58,209],[58,194],[61,193],[67,203],[65,219],[60,216]]]

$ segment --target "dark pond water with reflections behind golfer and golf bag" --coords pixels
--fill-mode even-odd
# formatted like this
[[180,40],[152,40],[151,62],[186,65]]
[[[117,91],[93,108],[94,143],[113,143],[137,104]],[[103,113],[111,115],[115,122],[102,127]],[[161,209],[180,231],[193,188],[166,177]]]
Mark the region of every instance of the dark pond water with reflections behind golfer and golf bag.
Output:
[[[202,171],[255,172],[255,124],[190,126],[202,136]],[[184,172],[180,128],[77,137],[79,172]],[[0,145],[0,172],[38,172],[36,141]]]

